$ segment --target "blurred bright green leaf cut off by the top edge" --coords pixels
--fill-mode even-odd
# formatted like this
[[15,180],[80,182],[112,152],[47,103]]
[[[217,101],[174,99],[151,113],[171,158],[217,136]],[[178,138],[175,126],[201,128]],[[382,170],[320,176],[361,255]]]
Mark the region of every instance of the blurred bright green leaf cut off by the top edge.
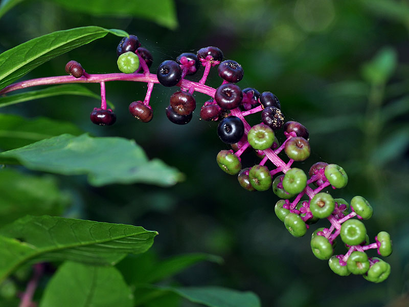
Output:
[[53,0],[53,2],[74,12],[97,16],[133,16],[152,20],[170,29],[177,27],[176,9],[173,0],[116,0],[115,2],[110,0]]

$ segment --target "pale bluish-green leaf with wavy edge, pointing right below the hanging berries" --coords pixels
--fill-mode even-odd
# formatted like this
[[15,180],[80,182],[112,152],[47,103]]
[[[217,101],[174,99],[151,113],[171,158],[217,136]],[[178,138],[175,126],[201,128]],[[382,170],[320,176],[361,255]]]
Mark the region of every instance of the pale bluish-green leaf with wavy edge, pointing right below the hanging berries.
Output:
[[64,134],[0,153],[0,163],[65,175],[87,174],[90,184],[148,183],[169,186],[181,173],[157,159],[148,160],[134,141]]

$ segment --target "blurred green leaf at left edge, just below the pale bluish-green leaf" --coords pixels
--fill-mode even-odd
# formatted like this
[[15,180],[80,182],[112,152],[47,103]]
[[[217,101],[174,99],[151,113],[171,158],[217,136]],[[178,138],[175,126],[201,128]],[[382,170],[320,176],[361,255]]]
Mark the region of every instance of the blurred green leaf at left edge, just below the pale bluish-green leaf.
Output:
[[0,225],[27,214],[60,215],[71,202],[52,176],[37,177],[7,168],[0,170],[0,195]]

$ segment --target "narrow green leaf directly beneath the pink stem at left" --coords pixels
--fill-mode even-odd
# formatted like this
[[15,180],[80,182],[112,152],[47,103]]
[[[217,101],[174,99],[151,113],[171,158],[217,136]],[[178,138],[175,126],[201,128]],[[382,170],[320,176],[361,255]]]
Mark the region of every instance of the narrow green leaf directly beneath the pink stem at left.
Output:
[[[95,94],[92,91],[89,91],[85,86],[80,84],[63,84],[50,86],[47,89],[36,90],[25,92],[21,94],[15,94],[10,96],[0,97],[0,107],[16,104],[20,102],[30,101],[34,99],[47,98],[59,95],[77,95],[77,96],[86,96],[101,100],[99,94]],[[113,109],[112,103],[107,101],[109,106]]]

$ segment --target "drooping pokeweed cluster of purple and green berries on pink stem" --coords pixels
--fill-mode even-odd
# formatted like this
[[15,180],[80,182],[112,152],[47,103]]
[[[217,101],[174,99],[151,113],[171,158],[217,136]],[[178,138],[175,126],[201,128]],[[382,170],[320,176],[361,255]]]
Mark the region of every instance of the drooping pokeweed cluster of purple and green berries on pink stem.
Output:
[[[129,80],[148,83],[145,99],[133,101],[129,105],[130,114],[142,122],[152,120],[149,100],[155,83],[164,86],[178,86],[166,107],[168,119],[179,125],[187,124],[196,109],[194,92],[207,94],[211,99],[203,103],[200,118],[218,121],[217,135],[231,146],[221,150],[217,163],[226,173],[238,174],[240,186],[248,191],[272,191],[281,199],[275,205],[278,218],[295,237],[306,234],[311,224],[326,218],[331,226],[316,229],[311,236],[311,249],[319,259],[329,260],[329,267],[338,275],[362,275],[369,281],[381,282],[388,278],[390,265],[377,258],[368,257],[366,251],[376,249],[381,256],[392,253],[392,241],[387,232],[381,231],[370,244],[367,229],[361,220],[368,220],[373,209],[367,200],[355,196],[350,204],[344,199],[334,199],[324,189],[343,188],[348,183],[345,170],[336,164],[317,162],[307,174],[300,168],[292,167],[294,161],[304,161],[310,156],[309,132],[301,123],[285,122],[281,104],[270,92],[259,93],[256,89],[240,89],[236,84],[244,75],[243,68],[234,60],[223,60],[223,53],[216,47],[201,48],[194,53],[182,53],[175,60],[162,62],[151,74],[153,62],[151,53],[141,47],[135,35],[124,37],[117,47],[118,68],[121,74],[89,75],[76,61],[66,64],[65,71],[73,77],[51,77],[33,80],[33,85],[68,82],[99,82],[101,84],[101,107],[94,108],[90,115],[93,123],[111,125],[116,116],[107,109],[105,81]],[[198,82],[187,80],[204,67]],[[206,85],[210,69],[217,66],[223,79],[214,89]],[[16,83],[7,86],[1,93],[14,91],[23,86]],[[24,87],[30,86],[25,81]],[[261,122],[248,124],[245,116],[261,112]],[[285,140],[280,145],[276,134],[282,130]],[[259,164],[242,168],[241,155],[253,148],[260,157]],[[279,157],[284,151],[289,159]],[[282,155],[283,156],[283,155]],[[271,166],[266,166],[269,163]],[[281,173],[281,174],[280,174]],[[277,176],[276,176],[277,175]],[[276,176],[274,178],[274,176]],[[293,199],[290,201],[290,199]],[[347,252],[333,255],[336,238],[340,237]]]

